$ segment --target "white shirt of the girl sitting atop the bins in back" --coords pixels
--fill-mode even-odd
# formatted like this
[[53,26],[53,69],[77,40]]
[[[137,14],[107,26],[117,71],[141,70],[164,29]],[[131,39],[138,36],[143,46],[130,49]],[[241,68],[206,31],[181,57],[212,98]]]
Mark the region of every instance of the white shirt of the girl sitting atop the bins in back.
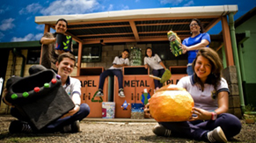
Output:
[[154,56],[151,57],[145,57],[144,58],[144,65],[148,64],[150,66],[150,68],[158,70],[158,69],[163,69],[164,67],[162,67],[159,62],[161,61],[160,57],[155,54]]

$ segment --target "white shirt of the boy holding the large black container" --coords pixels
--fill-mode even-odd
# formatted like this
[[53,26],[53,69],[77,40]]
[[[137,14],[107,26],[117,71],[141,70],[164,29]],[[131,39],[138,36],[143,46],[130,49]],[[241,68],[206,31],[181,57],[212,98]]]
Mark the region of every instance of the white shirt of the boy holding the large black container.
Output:
[[62,85],[70,98],[73,97],[74,93],[81,96],[81,82],[77,78],[72,78],[68,76],[66,84]]

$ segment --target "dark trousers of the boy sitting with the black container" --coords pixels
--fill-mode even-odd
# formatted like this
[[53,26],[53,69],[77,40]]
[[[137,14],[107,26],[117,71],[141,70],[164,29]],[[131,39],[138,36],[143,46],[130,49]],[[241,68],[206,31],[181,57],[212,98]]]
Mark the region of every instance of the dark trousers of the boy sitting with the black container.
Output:
[[[83,118],[86,118],[90,113],[90,107],[88,104],[81,104],[80,110],[77,111],[73,116],[66,118],[59,118],[55,122],[41,129],[42,132],[55,132],[62,129],[65,125],[70,125],[76,120],[81,121]],[[28,118],[24,118],[16,108],[11,108],[11,115],[15,118],[18,118],[20,121],[28,122]]]

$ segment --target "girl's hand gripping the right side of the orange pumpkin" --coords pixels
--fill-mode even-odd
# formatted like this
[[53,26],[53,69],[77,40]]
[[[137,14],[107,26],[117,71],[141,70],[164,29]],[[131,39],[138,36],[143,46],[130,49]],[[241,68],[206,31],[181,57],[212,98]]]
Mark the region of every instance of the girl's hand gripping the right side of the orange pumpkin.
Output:
[[193,107],[192,111],[193,114],[195,114],[195,117],[191,117],[189,121],[195,121],[195,120],[209,120],[211,118],[211,112],[205,111],[200,108]]

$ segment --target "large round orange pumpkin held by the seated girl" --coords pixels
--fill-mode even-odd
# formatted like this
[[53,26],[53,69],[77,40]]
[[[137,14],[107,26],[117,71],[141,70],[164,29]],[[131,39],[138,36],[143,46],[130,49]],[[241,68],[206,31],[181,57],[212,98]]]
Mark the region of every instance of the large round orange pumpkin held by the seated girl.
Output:
[[192,116],[194,100],[186,89],[166,85],[150,98],[150,114],[157,122],[187,121]]

